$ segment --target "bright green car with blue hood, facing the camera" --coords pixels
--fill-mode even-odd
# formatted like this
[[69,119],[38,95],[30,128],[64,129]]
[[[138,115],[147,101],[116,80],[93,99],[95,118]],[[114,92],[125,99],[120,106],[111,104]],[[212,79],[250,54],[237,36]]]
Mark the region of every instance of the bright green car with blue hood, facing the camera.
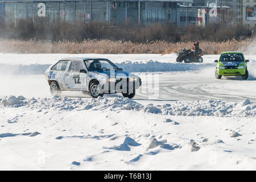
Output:
[[249,76],[247,71],[247,63],[242,52],[222,52],[219,60],[215,60],[216,70],[215,77],[221,79],[222,76],[238,76],[241,75],[243,80]]

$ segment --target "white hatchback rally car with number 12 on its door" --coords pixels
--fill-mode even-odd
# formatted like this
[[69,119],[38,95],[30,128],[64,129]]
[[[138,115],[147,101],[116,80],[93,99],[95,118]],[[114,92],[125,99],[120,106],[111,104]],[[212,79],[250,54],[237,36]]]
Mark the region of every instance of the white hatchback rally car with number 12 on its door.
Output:
[[124,72],[108,59],[66,58],[51,65],[45,72],[52,95],[62,90],[82,91],[97,98],[103,94],[122,93],[133,98],[141,86],[141,78]]

